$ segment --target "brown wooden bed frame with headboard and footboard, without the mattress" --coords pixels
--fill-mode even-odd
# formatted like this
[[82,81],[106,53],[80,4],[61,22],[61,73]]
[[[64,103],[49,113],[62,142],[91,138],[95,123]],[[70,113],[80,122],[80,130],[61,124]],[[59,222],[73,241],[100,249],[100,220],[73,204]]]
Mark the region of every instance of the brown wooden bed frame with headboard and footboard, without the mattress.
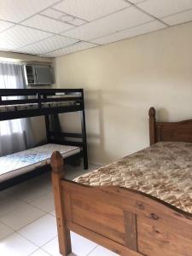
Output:
[[[149,133],[150,144],[192,143],[192,120],[156,122],[150,108]],[[123,256],[192,255],[192,214],[133,189],[67,181],[58,152],[52,155],[51,166],[62,255],[71,253],[70,230]]]

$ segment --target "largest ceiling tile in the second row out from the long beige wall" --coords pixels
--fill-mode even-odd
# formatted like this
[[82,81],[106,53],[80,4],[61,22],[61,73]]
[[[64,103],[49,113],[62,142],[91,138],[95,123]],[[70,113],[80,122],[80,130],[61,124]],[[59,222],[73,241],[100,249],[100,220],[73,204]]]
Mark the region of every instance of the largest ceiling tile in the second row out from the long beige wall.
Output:
[[137,26],[154,20],[135,7],[121,10],[100,20],[95,20],[83,26],[76,27],[63,34],[70,38],[79,38],[84,41],[100,38],[113,32]]

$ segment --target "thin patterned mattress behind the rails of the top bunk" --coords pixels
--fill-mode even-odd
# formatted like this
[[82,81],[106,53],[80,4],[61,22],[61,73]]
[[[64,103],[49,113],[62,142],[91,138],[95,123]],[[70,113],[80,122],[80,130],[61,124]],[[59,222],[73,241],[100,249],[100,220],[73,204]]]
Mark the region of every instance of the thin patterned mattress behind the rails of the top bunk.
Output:
[[[56,108],[56,107],[65,107],[65,106],[75,106],[77,102],[43,102],[42,108]],[[17,105],[2,105],[0,106],[0,112],[9,112],[9,111],[20,111],[28,109],[38,109],[38,103],[30,104],[17,104]]]

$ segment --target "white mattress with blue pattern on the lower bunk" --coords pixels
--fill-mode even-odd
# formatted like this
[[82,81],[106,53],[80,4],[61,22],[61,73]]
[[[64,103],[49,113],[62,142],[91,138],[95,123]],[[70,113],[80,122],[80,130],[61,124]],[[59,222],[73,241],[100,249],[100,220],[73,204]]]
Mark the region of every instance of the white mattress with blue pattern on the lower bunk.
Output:
[[45,144],[15,154],[2,156],[0,157],[0,182],[49,164],[51,154],[55,150],[59,151],[63,158],[66,158],[79,153],[80,148],[59,144]]

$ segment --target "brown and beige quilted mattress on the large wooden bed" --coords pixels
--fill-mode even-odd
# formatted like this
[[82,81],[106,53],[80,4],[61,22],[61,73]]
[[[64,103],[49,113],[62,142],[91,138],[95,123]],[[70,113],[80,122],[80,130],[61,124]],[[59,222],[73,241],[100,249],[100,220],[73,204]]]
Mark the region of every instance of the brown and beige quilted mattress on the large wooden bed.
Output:
[[156,143],[74,181],[136,189],[192,213],[192,143]]

